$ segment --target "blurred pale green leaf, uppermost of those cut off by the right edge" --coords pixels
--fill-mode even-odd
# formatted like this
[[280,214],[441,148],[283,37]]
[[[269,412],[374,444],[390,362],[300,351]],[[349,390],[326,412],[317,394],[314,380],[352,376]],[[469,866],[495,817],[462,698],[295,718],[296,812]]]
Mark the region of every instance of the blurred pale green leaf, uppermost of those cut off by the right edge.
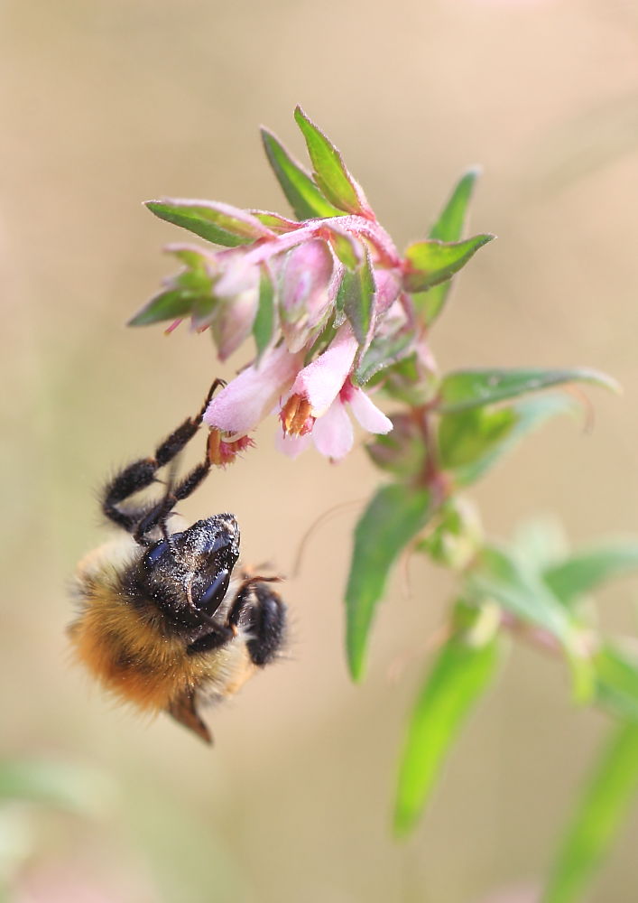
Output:
[[595,590],[601,583],[638,570],[638,542],[619,541],[598,545],[552,564],[545,582],[565,605]]

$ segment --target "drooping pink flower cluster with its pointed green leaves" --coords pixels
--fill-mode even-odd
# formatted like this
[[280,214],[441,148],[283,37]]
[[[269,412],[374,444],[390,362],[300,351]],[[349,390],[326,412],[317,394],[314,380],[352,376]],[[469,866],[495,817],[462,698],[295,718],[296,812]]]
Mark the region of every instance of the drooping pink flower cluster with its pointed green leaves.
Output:
[[274,135],[263,135],[297,219],[205,200],[147,205],[225,247],[170,246],[184,268],[132,324],[169,320],[170,331],[190,317],[193,329],[211,330],[221,360],[254,338],[253,361],[205,414],[218,433],[209,444],[217,463],[232,461],[273,413],[282,425],[280,448],[291,456],[314,442],[328,458],[343,458],[354,441],[349,413],[368,433],[388,433],[392,421],[366,384],[373,377],[383,382],[385,372],[410,357],[429,366],[428,318],[414,293],[447,281],[489,240],[430,237],[401,256],[337,148],[301,109],[295,118],[312,175]]

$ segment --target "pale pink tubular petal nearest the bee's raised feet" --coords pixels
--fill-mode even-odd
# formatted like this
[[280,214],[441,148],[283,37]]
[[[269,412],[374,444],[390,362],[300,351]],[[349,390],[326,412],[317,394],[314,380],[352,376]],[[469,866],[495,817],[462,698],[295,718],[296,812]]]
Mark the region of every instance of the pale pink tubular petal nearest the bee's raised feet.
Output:
[[254,429],[288,390],[302,360],[301,354],[291,354],[285,345],[265,354],[259,367],[252,364],[242,370],[213,398],[205,422],[224,433]]

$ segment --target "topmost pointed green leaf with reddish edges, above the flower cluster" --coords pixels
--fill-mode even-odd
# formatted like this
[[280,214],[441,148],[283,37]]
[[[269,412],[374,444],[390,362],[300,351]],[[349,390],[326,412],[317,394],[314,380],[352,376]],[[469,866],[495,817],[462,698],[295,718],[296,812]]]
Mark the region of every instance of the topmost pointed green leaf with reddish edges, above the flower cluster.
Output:
[[335,145],[310,121],[301,107],[296,107],[294,117],[306,139],[315,181],[321,191],[338,209],[365,214],[365,199]]

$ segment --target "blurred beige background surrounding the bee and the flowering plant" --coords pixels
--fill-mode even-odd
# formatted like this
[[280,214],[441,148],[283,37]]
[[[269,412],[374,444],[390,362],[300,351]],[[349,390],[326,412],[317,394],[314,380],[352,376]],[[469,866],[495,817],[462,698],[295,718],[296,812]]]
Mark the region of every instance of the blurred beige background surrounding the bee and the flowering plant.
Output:
[[[349,683],[342,592],[376,479],[364,452],[291,463],[266,424],[256,451],[183,505],[235,512],[245,560],[290,575],[305,531],[351,503],[285,584],[290,655],[211,713],[215,749],[114,707],[69,665],[67,581],[108,535],[106,473],[150,452],[249,354],[220,368],[207,334],[125,329],[180,238],[141,202],[287,213],[257,128],[301,157],[297,103],[400,247],[468,164],[484,166],[472,226],[499,240],[432,336],[441,368],[588,365],[624,385],[623,398],[589,392],[593,432],[551,424],[485,479],[490,533],[554,512],[576,543],[638,534],[638,7],[2,0],[0,43],[2,752],[18,770],[42,762],[61,797],[3,809],[10,899],[531,900],[605,719],[572,708],[560,666],[517,648],[421,827],[392,840],[403,724],[452,586],[416,560],[409,581],[397,573],[368,678]],[[631,581],[607,591],[610,630],[633,628],[635,594]],[[635,898],[637,828],[634,816],[594,901]]]

